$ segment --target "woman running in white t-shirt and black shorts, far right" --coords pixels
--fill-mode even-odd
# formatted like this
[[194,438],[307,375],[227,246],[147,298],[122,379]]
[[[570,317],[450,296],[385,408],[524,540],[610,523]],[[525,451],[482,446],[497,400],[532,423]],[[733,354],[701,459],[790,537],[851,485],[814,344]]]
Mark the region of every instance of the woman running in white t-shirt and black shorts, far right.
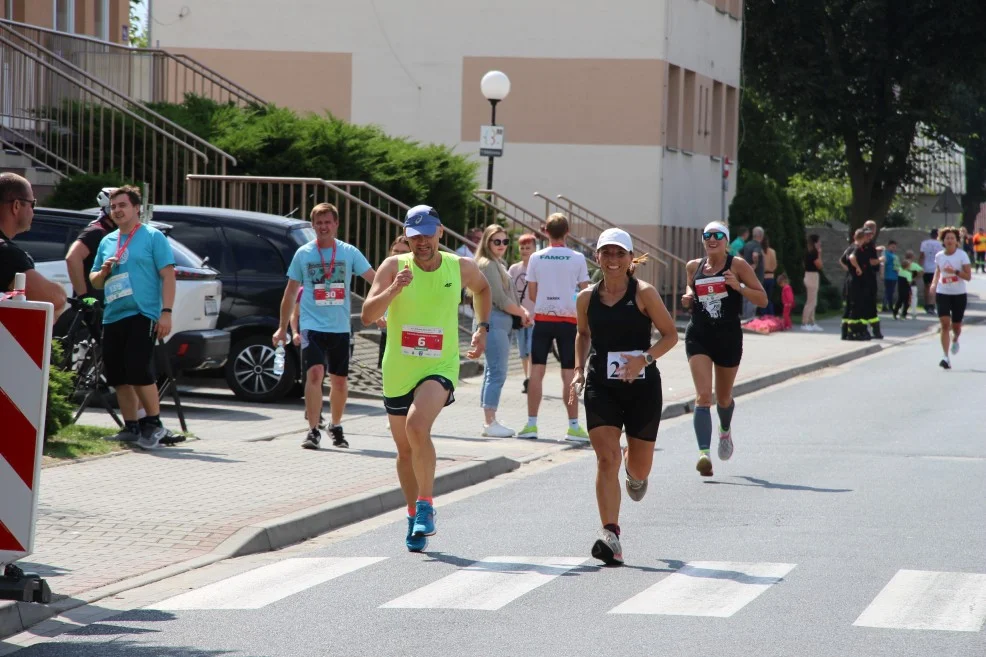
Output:
[[959,248],[957,228],[944,229],[940,237],[945,250],[935,254],[935,275],[931,281],[931,289],[935,291],[938,321],[941,322],[941,346],[944,353],[938,364],[948,370],[952,368],[949,359],[950,341],[952,354],[959,353],[962,317],[965,314],[968,298],[965,282],[972,280],[972,262],[969,260],[969,254]]

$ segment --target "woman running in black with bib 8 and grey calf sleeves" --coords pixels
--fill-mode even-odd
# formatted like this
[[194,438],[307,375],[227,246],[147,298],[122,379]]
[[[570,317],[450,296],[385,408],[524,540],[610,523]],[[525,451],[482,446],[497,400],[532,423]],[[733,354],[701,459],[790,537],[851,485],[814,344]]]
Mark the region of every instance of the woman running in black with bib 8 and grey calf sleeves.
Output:
[[686,266],[688,289],[681,305],[692,309],[685,329],[685,355],[695,383],[692,422],[698,441],[695,469],[712,476],[709,447],[712,444],[712,386],[715,373],[716,410],[719,415],[719,460],[733,455],[730,426],[733,418],[733,382],[743,356],[740,313],[743,299],[754,306],[767,305],[767,293],[753,268],[742,258],[727,255],[729,229],[713,221],[702,231],[705,257]]

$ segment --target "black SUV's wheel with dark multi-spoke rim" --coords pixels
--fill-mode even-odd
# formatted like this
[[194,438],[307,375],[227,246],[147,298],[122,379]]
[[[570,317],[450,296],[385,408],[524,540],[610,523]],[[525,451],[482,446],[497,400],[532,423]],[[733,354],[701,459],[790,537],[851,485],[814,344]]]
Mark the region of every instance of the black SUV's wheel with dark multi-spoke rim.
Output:
[[246,401],[272,402],[284,397],[294,386],[298,364],[291,354],[284,359],[284,373],[274,374],[274,347],[270,337],[254,335],[240,340],[229,350],[226,383],[233,394]]

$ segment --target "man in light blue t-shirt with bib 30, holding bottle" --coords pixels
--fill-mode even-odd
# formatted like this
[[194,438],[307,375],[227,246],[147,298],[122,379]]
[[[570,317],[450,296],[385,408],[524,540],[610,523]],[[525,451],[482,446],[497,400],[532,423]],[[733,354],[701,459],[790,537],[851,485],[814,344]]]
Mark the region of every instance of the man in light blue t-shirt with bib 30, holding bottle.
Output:
[[350,293],[352,277],[373,283],[376,272],[359,249],[336,239],[339,211],[331,203],[312,208],[315,241],[298,248],[288,267],[288,284],[281,299],[281,325],[274,346],[287,344],[287,327],[295,299],[301,293],[301,355],[305,369],[305,418],[309,431],[301,444],[318,449],[322,412],[322,382],[329,370],[329,406],[332,411],[332,444],[349,447],[342,433],[342,414],[349,395]]

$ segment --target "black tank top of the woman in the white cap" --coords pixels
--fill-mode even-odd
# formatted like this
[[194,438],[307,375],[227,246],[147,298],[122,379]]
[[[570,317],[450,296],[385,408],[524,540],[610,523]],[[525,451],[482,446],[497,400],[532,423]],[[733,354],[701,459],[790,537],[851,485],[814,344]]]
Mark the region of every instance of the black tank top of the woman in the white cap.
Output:
[[[642,352],[651,346],[651,319],[637,307],[637,279],[630,278],[627,291],[612,306],[599,297],[596,283],[589,297],[589,331],[592,333],[592,351],[589,356],[588,379],[595,384],[626,385],[618,378],[610,378],[622,365],[618,354],[628,351]],[[642,370],[638,383],[657,381],[657,365],[651,363]]]

